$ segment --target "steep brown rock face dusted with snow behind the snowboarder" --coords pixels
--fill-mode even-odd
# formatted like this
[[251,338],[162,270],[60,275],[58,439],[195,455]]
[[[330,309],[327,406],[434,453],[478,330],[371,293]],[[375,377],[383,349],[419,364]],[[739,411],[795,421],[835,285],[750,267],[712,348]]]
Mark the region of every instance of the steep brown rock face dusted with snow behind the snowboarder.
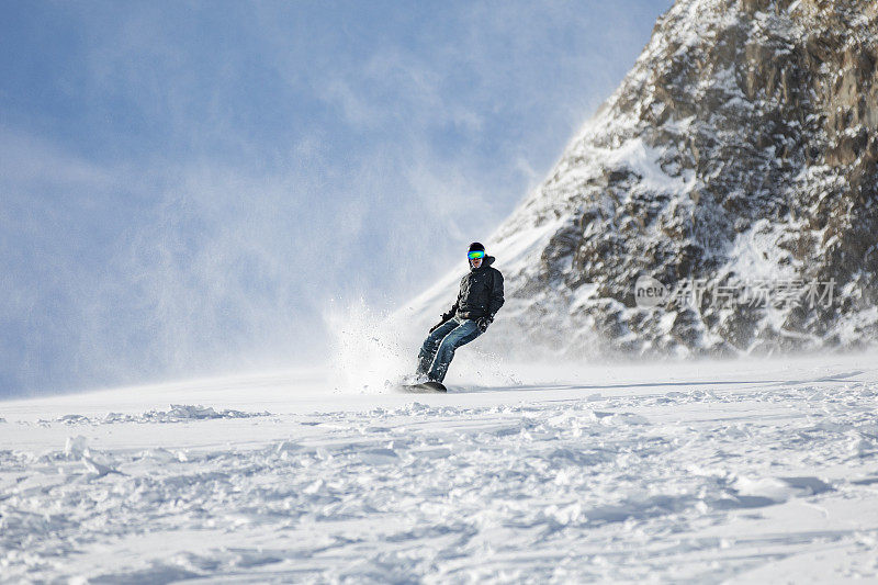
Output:
[[[874,340],[876,60],[874,2],[679,0],[492,238],[497,337],[644,356]],[[707,292],[640,306],[641,277]]]

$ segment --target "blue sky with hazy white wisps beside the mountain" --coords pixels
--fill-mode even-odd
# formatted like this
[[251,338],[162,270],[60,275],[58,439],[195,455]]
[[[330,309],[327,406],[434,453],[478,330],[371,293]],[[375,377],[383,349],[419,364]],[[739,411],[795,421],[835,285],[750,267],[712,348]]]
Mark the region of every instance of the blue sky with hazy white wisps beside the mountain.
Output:
[[326,353],[550,170],[669,5],[0,2],[0,396]]

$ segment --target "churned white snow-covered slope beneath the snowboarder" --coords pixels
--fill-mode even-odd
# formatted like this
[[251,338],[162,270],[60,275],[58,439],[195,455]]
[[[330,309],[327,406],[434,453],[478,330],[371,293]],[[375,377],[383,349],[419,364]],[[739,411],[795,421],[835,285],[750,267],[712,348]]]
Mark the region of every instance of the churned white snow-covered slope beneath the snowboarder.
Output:
[[875,358],[3,402],[0,581],[876,580]]

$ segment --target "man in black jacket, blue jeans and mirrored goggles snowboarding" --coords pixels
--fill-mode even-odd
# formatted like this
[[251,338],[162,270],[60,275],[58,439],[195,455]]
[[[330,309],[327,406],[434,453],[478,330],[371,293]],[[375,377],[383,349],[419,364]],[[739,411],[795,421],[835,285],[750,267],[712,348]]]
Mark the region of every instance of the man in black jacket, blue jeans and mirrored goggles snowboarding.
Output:
[[454,350],[485,333],[503,306],[503,274],[491,267],[494,257],[485,256],[485,247],[477,241],[470,244],[466,256],[470,272],[460,280],[458,300],[430,329],[418,353],[419,379],[441,384]]

